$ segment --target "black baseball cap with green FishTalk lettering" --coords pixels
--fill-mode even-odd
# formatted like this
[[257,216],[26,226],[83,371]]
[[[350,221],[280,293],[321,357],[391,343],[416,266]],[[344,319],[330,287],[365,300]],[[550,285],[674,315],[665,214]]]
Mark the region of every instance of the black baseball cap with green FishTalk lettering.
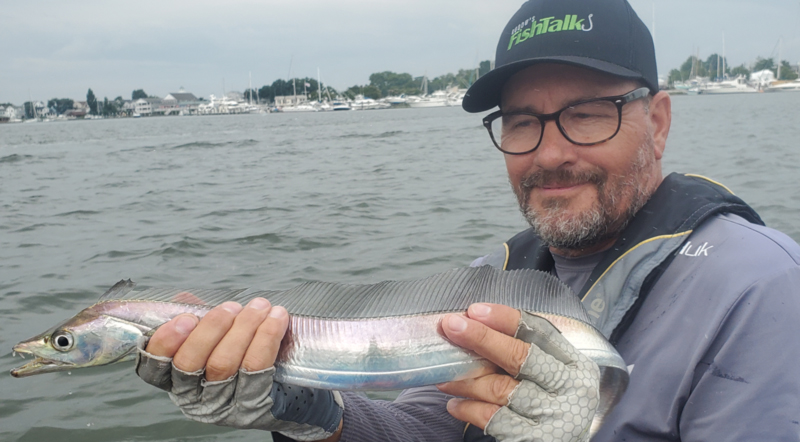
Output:
[[467,91],[467,112],[500,105],[508,79],[539,63],[582,66],[641,80],[658,92],[653,37],[626,0],[529,0],[497,44],[495,68]]

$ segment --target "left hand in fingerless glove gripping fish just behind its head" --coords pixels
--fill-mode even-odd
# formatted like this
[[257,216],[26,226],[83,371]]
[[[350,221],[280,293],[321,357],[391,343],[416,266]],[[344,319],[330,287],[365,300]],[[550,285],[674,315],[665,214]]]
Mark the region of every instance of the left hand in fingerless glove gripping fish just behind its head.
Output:
[[277,431],[295,440],[338,440],[338,392],[273,382],[289,315],[256,298],[226,302],[202,320],[179,315],[140,347],[136,373],[170,393],[187,417],[234,428]]

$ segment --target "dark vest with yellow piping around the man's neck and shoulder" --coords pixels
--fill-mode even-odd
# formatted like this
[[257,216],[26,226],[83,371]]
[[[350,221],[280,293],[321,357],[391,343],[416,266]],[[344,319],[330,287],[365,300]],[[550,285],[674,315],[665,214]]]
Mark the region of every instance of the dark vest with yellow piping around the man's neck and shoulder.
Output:
[[[593,325],[614,343],[689,235],[720,213],[764,225],[722,184],[675,173],[664,179],[577,293]],[[503,270],[553,270],[553,256],[533,229],[517,234],[504,247]]]

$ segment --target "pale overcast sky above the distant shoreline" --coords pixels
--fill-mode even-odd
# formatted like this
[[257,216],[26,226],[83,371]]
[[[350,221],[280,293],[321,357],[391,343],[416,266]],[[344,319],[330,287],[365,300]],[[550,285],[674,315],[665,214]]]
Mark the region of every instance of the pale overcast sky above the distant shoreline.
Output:
[[[731,65],[800,61],[800,0],[630,0],[655,10],[659,73],[722,52]],[[0,102],[243,91],[316,77],[337,89],[380,71],[429,77],[494,58],[520,0],[0,0]],[[652,30],[652,29],[651,29]],[[224,86],[223,86],[224,85]]]

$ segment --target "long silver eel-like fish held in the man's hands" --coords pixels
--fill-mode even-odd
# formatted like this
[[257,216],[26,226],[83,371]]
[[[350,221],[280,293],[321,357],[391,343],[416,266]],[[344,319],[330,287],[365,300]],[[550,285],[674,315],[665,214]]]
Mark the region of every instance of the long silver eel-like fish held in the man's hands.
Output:
[[[279,382],[331,390],[399,390],[465,379],[488,364],[445,339],[440,322],[470,304],[508,305],[558,328],[601,370],[598,427],[619,401],[628,371],[614,347],[590,324],[580,300],[553,276],[534,270],[463,268],[422,280],[369,285],[310,282],[286,291],[134,290],[120,281],[91,307],[14,351],[36,358],[11,371],[39,373],[132,360],[136,344],[181,313],[205,315],[227,300],[255,297],[291,315],[278,359]],[[596,425],[595,425],[596,424]]]

